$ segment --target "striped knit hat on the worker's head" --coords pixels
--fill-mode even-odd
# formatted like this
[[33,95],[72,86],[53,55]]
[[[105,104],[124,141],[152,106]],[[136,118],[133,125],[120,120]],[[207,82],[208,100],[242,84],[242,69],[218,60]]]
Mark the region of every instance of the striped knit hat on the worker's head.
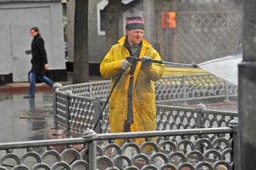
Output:
[[128,17],[125,21],[125,29],[144,29],[144,19],[142,17]]

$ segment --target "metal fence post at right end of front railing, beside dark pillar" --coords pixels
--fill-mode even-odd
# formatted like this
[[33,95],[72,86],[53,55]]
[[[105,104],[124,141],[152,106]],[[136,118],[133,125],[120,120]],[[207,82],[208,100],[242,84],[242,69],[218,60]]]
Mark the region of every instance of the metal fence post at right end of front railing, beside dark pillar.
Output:
[[[231,162],[234,162],[234,169],[242,169],[241,167],[241,159],[240,159],[240,141],[239,141],[239,119],[233,119],[229,121],[228,127],[231,127],[233,129],[233,132],[231,136],[233,137],[233,157],[231,156]],[[232,158],[234,160],[232,160]]]

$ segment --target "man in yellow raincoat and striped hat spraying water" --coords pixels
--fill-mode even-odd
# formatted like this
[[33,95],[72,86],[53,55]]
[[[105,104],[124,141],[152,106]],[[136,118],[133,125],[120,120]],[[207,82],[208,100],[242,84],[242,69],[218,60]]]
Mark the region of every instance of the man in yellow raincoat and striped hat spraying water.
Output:
[[[100,67],[102,76],[111,78],[111,88],[123,73],[110,97],[110,132],[156,130],[154,82],[163,76],[164,65],[150,62],[151,59],[161,58],[143,39],[142,17],[130,17],[125,23],[126,36],[111,47]],[[127,56],[142,58],[142,62],[131,64],[125,59]],[[140,145],[144,139],[134,141]],[[121,146],[124,141],[115,142]]]

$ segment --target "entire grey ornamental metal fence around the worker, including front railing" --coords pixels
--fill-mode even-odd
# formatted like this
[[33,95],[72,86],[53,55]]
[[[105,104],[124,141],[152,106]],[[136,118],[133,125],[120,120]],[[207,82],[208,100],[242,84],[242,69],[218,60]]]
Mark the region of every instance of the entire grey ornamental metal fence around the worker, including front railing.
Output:
[[[196,108],[157,105],[157,131],[109,133],[108,107],[99,115],[106,102],[99,96],[106,97],[109,88],[109,81],[67,87],[55,84],[55,128],[64,129],[67,137],[83,134],[83,138],[0,144],[0,169],[110,170],[121,168],[120,163],[125,163],[126,170],[236,167],[237,121],[233,119],[238,117],[237,112],[211,111],[202,104]],[[236,88],[229,88],[210,74],[164,77],[155,83],[155,88],[164,100],[181,100],[167,94],[182,90],[184,102],[198,99],[196,94],[225,99],[226,94],[237,94]],[[190,91],[194,92],[192,96],[187,93]],[[98,118],[95,133],[92,129]],[[137,145],[137,138],[145,142]],[[116,139],[125,140],[125,144],[120,147],[114,143]]]

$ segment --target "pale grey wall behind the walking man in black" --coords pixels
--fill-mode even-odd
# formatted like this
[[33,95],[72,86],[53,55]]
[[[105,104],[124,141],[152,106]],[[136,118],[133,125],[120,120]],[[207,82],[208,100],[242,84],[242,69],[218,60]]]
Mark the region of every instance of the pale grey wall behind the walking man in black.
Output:
[[0,3],[0,16],[0,74],[13,73],[14,82],[28,80],[31,55],[25,50],[31,49],[32,26],[45,40],[49,70],[66,69],[60,1]]

